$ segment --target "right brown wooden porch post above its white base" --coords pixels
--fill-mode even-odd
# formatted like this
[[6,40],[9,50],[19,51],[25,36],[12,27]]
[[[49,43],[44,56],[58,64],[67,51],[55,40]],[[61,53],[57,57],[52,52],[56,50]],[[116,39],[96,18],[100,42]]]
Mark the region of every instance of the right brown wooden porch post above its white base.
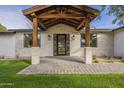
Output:
[[86,47],[90,47],[90,21],[89,19],[87,19],[85,23],[85,40],[86,40]]

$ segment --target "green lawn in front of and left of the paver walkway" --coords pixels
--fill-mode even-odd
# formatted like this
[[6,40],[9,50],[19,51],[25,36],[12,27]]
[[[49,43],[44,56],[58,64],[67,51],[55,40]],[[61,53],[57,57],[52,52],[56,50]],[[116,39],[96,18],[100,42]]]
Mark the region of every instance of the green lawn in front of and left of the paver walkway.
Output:
[[29,61],[0,61],[0,87],[124,87],[124,74],[16,75]]

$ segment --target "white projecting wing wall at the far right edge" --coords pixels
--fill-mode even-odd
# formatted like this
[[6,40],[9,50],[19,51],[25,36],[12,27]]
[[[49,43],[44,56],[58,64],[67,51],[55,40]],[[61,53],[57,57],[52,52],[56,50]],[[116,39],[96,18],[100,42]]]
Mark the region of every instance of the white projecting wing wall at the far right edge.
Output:
[[114,55],[124,56],[124,29],[114,32]]

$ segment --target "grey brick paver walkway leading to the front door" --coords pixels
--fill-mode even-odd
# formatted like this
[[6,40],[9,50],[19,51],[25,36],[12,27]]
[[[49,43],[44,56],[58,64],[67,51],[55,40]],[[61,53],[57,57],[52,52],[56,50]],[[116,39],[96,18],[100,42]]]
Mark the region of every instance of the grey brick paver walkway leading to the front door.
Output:
[[109,74],[124,73],[124,63],[84,64],[79,57],[44,57],[18,74]]

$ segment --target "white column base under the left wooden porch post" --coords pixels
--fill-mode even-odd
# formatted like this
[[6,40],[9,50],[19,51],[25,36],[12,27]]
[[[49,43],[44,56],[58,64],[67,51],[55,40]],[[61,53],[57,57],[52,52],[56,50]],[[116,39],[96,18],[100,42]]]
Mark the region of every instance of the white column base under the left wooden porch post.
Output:
[[40,63],[39,47],[32,47],[31,63],[32,64],[39,64]]

